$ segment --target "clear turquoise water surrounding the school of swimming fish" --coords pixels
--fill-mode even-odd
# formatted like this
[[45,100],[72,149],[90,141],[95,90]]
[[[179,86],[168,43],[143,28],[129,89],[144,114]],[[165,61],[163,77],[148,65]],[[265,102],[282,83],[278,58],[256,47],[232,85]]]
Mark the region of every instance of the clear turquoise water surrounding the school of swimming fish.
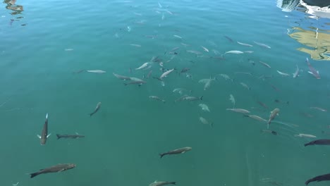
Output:
[[[298,51],[303,44],[288,32],[293,27],[312,32],[319,27],[318,32],[326,34],[330,20],[310,18],[301,8],[283,12],[276,1],[159,3],[17,1],[16,7],[23,6],[21,12],[3,4],[1,185],[149,185],[154,180],[192,186],[303,185],[309,178],[329,173],[330,149],[304,147],[314,138],[294,137],[299,133],[317,139],[330,137],[322,134],[322,130],[330,132],[329,112],[310,109],[330,109],[329,61],[317,61]],[[180,47],[177,55],[165,54],[175,47]],[[232,50],[254,52],[219,59]],[[140,87],[125,86],[112,74],[142,79],[152,70],[152,76],[159,77],[163,73],[159,63],[150,62],[148,70],[135,70],[153,56],[159,56],[164,68],[178,69],[164,78],[164,86],[152,77],[143,79],[147,83]],[[307,73],[307,57],[321,79]],[[296,65],[300,76],[293,78]],[[190,68],[191,77],[178,75],[182,68]],[[77,73],[80,70],[106,73]],[[276,70],[290,76],[282,77]],[[216,80],[204,90],[199,80],[209,77]],[[203,100],[174,102],[182,96],[173,93],[179,87]],[[262,118],[281,109],[269,128],[279,135],[260,132],[267,129],[265,123],[226,111],[233,107],[230,94],[236,108]],[[166,103],[149,99],[152,95]],[[99,101],[101,109],[90,117],[88,113]],[[210,112],[202,111],[201,103]],[[36,135],[42,131],[46,113],[51,136],[41,146]],[[213,128],[202,124],[199,117],[212,121]],[[75,132],[85,138],[56,140],[56,134]],[[193,149],[159,159],[159,153],[181,147]],[[57,163],[77,166],[33,179],[27,175]]]

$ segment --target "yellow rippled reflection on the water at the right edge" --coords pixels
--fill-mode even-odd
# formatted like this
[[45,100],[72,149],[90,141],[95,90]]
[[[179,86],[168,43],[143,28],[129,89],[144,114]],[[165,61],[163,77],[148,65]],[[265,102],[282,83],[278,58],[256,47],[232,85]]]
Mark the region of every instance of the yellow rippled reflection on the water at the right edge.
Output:
[[301,27],[293,27],[288,35],[305,45],[298,48],[299,51],[310,54],[314,60],[330,60],[330,35],[324,32],[304,30]]

